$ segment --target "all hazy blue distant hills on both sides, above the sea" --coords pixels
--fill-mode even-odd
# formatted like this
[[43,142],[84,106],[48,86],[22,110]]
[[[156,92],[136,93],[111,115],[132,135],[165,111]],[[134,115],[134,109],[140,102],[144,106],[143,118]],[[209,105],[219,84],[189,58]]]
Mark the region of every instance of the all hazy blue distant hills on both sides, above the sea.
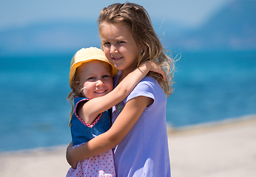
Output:
[[[161,22],[155,22],[155,31],[171,51],[256,49],[256,1],[231,1],[196,30]],[[96,21],[53,21],[0,31],[0,55],[74,53],[100,43]]]

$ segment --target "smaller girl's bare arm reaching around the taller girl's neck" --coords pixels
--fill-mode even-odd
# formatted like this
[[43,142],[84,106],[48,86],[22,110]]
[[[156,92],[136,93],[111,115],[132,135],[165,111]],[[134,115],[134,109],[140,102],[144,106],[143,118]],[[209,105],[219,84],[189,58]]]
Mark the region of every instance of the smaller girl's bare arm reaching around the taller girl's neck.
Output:
[[83,115],[81,118],[91,124],[98,114],[123,101],[149,71],[158,72],[165,77],[163,69],[155,65],[155,63],[146,61],[129,73],[109,94],[103,97],[96,97],[84,103],[80,109],[80,115]]

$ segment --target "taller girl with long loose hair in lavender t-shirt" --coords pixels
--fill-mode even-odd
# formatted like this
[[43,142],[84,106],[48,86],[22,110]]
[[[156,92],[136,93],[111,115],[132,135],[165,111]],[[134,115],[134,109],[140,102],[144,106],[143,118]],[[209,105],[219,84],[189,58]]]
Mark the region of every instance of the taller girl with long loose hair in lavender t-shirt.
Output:
[[104,8],[98,27],[107,59],[121,70],[114,78],[115,86],[146,60],[165,68],[166,80],[149,73],[123,102],[112,108],[114,123],[110,130],[80,147],[68,147],[67,160],[75,165],[78,160],[115,147],[118,177],[169,177],[164,94],[172,93],[170,69],[174,68],[174,61],[164,54],[148,13],[138,4],[112,4]]

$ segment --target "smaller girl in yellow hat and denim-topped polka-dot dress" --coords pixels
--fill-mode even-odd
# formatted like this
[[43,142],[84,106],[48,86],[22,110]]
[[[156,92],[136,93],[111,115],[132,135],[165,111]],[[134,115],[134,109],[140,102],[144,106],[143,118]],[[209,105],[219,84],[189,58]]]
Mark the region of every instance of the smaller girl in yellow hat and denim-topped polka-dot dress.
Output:
[[[104,52],[90,47],[75,53],[70,66],[72,91],[68,96],[69,100],[74,98],[75,105],[75,111],[70,114],[74,147],[88,142],[110,128],[110,112],[105,110],[124,100],[150,68],[150,63],[141,65],[140,70],[136,69],[112,91],[112,76],[117,74],[118,70],[110,64]],[[76,169],[70,168],[67,176],[115,176],[112,150],[79,161]]]

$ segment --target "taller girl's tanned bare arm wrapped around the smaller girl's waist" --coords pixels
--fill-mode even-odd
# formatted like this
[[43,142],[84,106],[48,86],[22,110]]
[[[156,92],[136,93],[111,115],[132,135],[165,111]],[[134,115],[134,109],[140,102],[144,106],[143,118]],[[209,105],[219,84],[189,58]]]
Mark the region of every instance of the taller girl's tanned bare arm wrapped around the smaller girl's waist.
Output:
[[153,103],[149,97],[135,97],[129,100],[109,131],[96,136],[84,145],[72,148],[67,147],[67,162],[75,168],[79,160],[87,159],[110,150],[121,142],[131,130],[142,112]]

